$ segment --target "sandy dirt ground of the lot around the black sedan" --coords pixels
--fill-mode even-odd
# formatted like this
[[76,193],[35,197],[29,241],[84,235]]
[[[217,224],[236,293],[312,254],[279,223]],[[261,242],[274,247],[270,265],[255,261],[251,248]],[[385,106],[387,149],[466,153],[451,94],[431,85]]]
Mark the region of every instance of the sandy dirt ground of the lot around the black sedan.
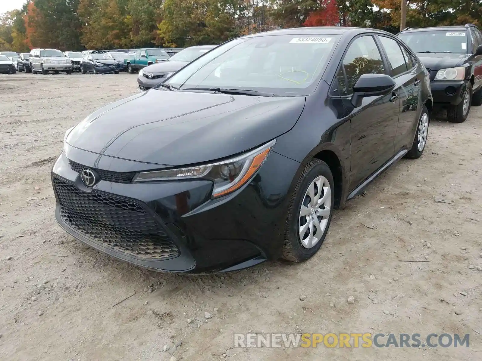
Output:
[[[433,120],[424,155],[336,211],[309,261],[199,277],[122,263],[54,220],[66,129],[136,91],[125,73],[0,75],[0,360],[482,360],[482,107]],[[232,349],[237,332],[469,333],[470,347]]]

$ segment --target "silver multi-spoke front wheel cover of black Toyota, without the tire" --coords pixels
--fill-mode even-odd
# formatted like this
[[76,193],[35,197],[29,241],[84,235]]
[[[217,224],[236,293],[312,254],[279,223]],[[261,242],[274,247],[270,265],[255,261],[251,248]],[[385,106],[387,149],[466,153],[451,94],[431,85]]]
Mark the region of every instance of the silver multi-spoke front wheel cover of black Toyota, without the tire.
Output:
[[331,212],[330,182],[323,176],[316,177],[303,197],[298,218],[301,245],[314,247],[321,239]]

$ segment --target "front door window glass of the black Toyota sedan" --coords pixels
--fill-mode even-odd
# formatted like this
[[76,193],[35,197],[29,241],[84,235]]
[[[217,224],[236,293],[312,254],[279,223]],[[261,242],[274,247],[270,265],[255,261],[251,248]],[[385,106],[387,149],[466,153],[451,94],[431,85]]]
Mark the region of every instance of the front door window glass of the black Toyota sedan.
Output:
[[353,86],[363,74],[386,74],[382,56],[371,35],[357,38],[350,44],[336,73],[338,87],[333,95],[351,95]]

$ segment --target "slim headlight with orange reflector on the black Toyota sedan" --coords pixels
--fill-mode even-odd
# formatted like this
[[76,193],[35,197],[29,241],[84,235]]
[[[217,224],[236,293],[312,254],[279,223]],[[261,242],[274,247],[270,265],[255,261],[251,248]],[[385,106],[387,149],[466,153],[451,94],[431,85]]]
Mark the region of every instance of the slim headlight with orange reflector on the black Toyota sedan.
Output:
[[273,148],[275,142],[276,140],[272,140],[251,152],[218,163],[136,173],[133,181],[209,179],[214,182],[212,198],[222,197],[241,188],[253,178],[268,157],[269,151]]

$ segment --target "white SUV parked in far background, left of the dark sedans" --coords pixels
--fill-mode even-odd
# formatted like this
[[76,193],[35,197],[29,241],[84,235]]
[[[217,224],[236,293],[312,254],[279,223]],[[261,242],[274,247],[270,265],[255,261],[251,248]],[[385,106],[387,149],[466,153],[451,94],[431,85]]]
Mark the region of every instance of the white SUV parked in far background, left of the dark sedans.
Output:
[[72,74],[72,62],[58,49],[33,49],[28,60],[33,74],[47,74],[50,71]]

